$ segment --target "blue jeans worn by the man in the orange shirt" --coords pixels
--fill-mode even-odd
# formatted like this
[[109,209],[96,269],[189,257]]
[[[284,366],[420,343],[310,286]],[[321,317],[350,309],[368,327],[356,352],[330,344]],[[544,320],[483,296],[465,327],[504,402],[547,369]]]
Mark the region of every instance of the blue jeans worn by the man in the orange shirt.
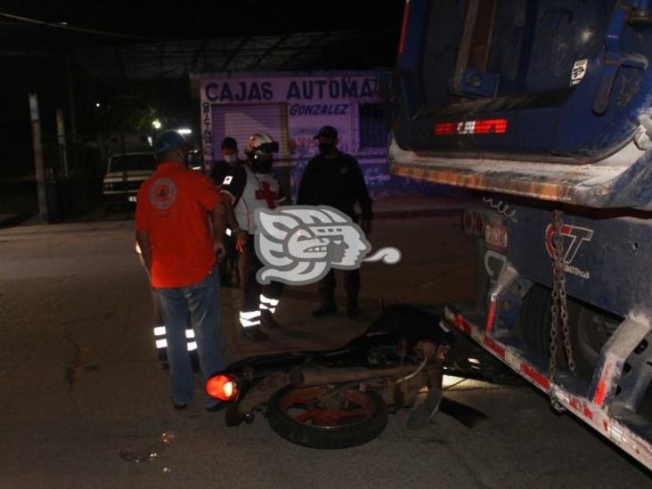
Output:
[[[172,377],[172,400],[190,403],[195,389],[192,365],[186,346],[188,316],[195,331],[203,385],[208,378],[224,370],[224,342],[219,322],[220,281],[217,267],[206,278],[186,287],[156,289],[167,330],[167,361]],[[206,407],[216,400],[204,392]]]

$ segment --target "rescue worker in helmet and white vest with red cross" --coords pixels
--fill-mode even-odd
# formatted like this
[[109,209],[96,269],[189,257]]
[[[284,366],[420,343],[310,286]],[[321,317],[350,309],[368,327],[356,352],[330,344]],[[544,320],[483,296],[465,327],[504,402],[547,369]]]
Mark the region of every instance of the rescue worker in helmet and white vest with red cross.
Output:
[[271,173],[273,153],[278,151],[279,143],[269,134],[252,135],[245,148],[246,163],[234,168],[220,187],[224,195],[227,223],[238,250],[240,287],[243,292],[240,332],[244,338],[253,341],[268,340],[263,330],[279,325],[274,321],[273,313],[279,304],[283,285],[275,281],[265,286],[258,283],[256,273],[263,264],[254,246],[255,209],[273,209],[285,200],[281,183]]

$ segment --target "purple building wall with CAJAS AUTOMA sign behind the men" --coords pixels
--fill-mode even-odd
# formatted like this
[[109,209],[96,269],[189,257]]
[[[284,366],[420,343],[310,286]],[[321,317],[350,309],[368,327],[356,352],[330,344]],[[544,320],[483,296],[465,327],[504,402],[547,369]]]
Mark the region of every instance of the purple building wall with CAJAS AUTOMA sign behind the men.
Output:
[[314,134],[338,129],[338,148],[360,162],[373,197],[397,193],[441,193],[387,171],[387,124],[378,73],[232,73],[199,75],[202,143],[206,162],[220,159],[224,136],[236,137],[243,157],[247,138],[268,132],[281,144],[274,172],[294,197],[308,159],[317,151]]

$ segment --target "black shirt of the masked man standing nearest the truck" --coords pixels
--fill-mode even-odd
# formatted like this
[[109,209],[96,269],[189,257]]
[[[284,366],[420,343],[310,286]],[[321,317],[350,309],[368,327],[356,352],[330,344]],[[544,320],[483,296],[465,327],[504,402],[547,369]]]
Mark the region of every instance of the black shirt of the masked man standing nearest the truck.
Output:
[[370,220],[371,198],[354,157],[338,151],[336,158],[327,159],[318,154],[308,161],[299,184],[298,205],[337,208],[357,222],[355,202],[363,211],[363,221]]

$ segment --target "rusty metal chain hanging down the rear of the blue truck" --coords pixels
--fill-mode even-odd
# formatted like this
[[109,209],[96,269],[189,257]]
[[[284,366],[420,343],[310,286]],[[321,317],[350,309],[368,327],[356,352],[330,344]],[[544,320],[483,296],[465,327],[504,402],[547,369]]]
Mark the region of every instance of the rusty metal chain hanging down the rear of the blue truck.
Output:
[[559,326],[561,326],[562,336],[564,338],[564,349],[566,350],[566,360],[568,370],[575,371],[575,359],[573,357],[573,346],[570,342],[570,328],[568,326],[568,306],[566,300],[566,273],[564,273],[564,238],[561,229],[564,225],[563,214],[556,210],[555,216],[555,235],[554,249],[555,253],[552,264],[552,304],[550,305],[550,381],[554,382],[557,371],[557,336]]

